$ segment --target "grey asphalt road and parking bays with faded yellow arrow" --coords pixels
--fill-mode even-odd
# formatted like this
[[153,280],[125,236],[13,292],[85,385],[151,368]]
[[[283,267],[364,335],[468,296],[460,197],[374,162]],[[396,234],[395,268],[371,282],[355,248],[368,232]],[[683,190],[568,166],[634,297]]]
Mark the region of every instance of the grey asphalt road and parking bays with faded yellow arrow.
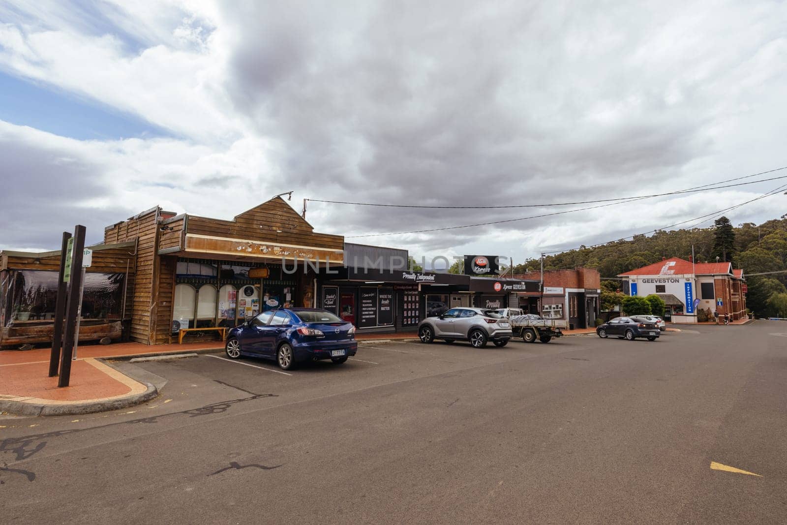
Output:
[[369,346],[291,375],[124,364],[162,396],[3,416],[0,521],[787,521],[787,324]]

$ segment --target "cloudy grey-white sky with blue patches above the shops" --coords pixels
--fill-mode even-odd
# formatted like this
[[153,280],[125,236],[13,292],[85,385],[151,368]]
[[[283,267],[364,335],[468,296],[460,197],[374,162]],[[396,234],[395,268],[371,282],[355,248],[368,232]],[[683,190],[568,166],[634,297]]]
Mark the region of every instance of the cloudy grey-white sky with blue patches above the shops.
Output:
[[[289,190],[298,211],[532,205],[748,176],[787,165],[785,63],[785,2],[0,0],[0,249],[56,249],[77,223],[98,242],[154,205],[230,219]],[[411,235],[352,237],[572,207],[310,202],[307,219],[516,262],[781,184]]]

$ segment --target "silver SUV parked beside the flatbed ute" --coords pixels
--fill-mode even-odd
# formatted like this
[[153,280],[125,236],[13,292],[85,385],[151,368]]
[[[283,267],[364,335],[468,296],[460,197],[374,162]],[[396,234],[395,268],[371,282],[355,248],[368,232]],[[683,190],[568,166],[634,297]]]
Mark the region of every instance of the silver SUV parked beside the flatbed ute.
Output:
[[508,319],[483,308],[452,308],[440,316],[427,317],[418,327],[421,342],[463,340],[475,348],[483,348],[490,339],[494,346],[505,346],[512,335]]

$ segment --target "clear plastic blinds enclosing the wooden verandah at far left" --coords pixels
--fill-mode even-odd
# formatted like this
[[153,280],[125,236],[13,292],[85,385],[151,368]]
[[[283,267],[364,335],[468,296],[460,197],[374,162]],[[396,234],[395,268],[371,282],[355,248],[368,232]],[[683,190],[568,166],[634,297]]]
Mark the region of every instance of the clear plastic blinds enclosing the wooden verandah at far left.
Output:
[[[0,283],[2,323],[54,320],[57,272],[9,270]],[[82,300],[83,319],[120,319],[125,274],[87,273]]]

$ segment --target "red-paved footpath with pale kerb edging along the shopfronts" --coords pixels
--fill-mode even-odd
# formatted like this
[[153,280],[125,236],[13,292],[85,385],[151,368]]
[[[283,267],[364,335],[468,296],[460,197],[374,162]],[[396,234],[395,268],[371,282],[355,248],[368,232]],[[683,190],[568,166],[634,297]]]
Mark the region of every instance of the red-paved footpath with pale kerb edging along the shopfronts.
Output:
[[[593,334],[593,328],[564,331],[565,335]],[[364,334],[357,340],[375,342],[417,341],[416,331]],[[61,416],[124,409],[149,401],[158,388],[146,378],[134,378],[113,367],[112,360],[132,357],[210,353],[224,349],[224,342],[209,339],[183,344],[143,345],[123,342],[79,346],[72,362],[70,386],[59,388],[49,377],[50,349],[0,350],[0,413],[20,416]],[[160,385],[161,386],[161,385]]]

